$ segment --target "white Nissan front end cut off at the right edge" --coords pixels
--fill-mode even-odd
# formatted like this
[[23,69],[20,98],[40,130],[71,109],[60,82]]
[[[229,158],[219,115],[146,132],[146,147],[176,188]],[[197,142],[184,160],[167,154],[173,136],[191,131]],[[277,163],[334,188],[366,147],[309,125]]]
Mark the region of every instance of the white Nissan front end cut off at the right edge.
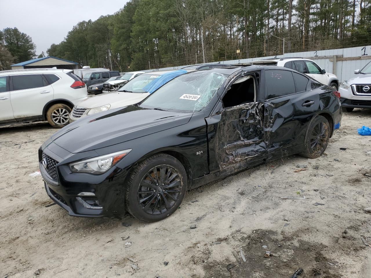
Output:
[[352,112],[354,108],[371,109],[371,62],[354,73],[356,76],[343,81],[339,88],[341,108],[344,112]]

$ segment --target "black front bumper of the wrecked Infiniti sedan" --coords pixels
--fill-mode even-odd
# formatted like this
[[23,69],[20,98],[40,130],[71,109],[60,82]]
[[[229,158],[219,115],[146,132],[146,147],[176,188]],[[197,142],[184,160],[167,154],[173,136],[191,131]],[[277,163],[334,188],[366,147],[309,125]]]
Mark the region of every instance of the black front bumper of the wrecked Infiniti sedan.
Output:
[[[40,152],[53,155],[47,148]],[[127,171],[113,166],[101,175],[72,173],[68,163],[64,165],[62,160],[56,166],[57,179],[53,180],[41,162],[39,167],[47,195],[69,215],[99,217],[125,214],[124,182]]]

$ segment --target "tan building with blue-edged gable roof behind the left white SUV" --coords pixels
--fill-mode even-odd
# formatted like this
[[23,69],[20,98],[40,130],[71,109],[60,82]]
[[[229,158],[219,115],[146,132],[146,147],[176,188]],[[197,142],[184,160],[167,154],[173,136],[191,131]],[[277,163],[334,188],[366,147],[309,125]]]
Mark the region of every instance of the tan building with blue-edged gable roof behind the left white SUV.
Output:
[[12,69],[40,69],[56,67],[57,69],[77,69],[79,63],[53,56],[32,59],[26,62],[13,64]]

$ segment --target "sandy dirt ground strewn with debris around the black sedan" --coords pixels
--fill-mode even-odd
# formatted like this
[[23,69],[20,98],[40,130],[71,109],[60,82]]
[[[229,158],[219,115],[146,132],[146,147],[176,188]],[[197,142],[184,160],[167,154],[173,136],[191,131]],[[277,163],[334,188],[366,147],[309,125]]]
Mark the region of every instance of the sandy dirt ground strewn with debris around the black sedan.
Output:
[[299,278],[369,278],[371,136],[357,134],[362,125],[371,110],[345,113],[320,158],[290,156],[194,189],[152,224],[45,207],[42,177],[30,174],[56,130],[0,128],[0,278],[288,278],[298,268]]

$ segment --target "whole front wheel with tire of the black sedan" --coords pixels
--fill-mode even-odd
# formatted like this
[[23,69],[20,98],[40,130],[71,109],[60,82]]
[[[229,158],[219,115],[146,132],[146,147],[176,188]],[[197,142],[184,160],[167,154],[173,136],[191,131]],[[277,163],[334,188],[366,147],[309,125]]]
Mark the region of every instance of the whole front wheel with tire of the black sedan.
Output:
[[145,222],[173,214],[187,192],[187,173],[180,161],[160,153],[138,164],[125,192],[127,211]]

